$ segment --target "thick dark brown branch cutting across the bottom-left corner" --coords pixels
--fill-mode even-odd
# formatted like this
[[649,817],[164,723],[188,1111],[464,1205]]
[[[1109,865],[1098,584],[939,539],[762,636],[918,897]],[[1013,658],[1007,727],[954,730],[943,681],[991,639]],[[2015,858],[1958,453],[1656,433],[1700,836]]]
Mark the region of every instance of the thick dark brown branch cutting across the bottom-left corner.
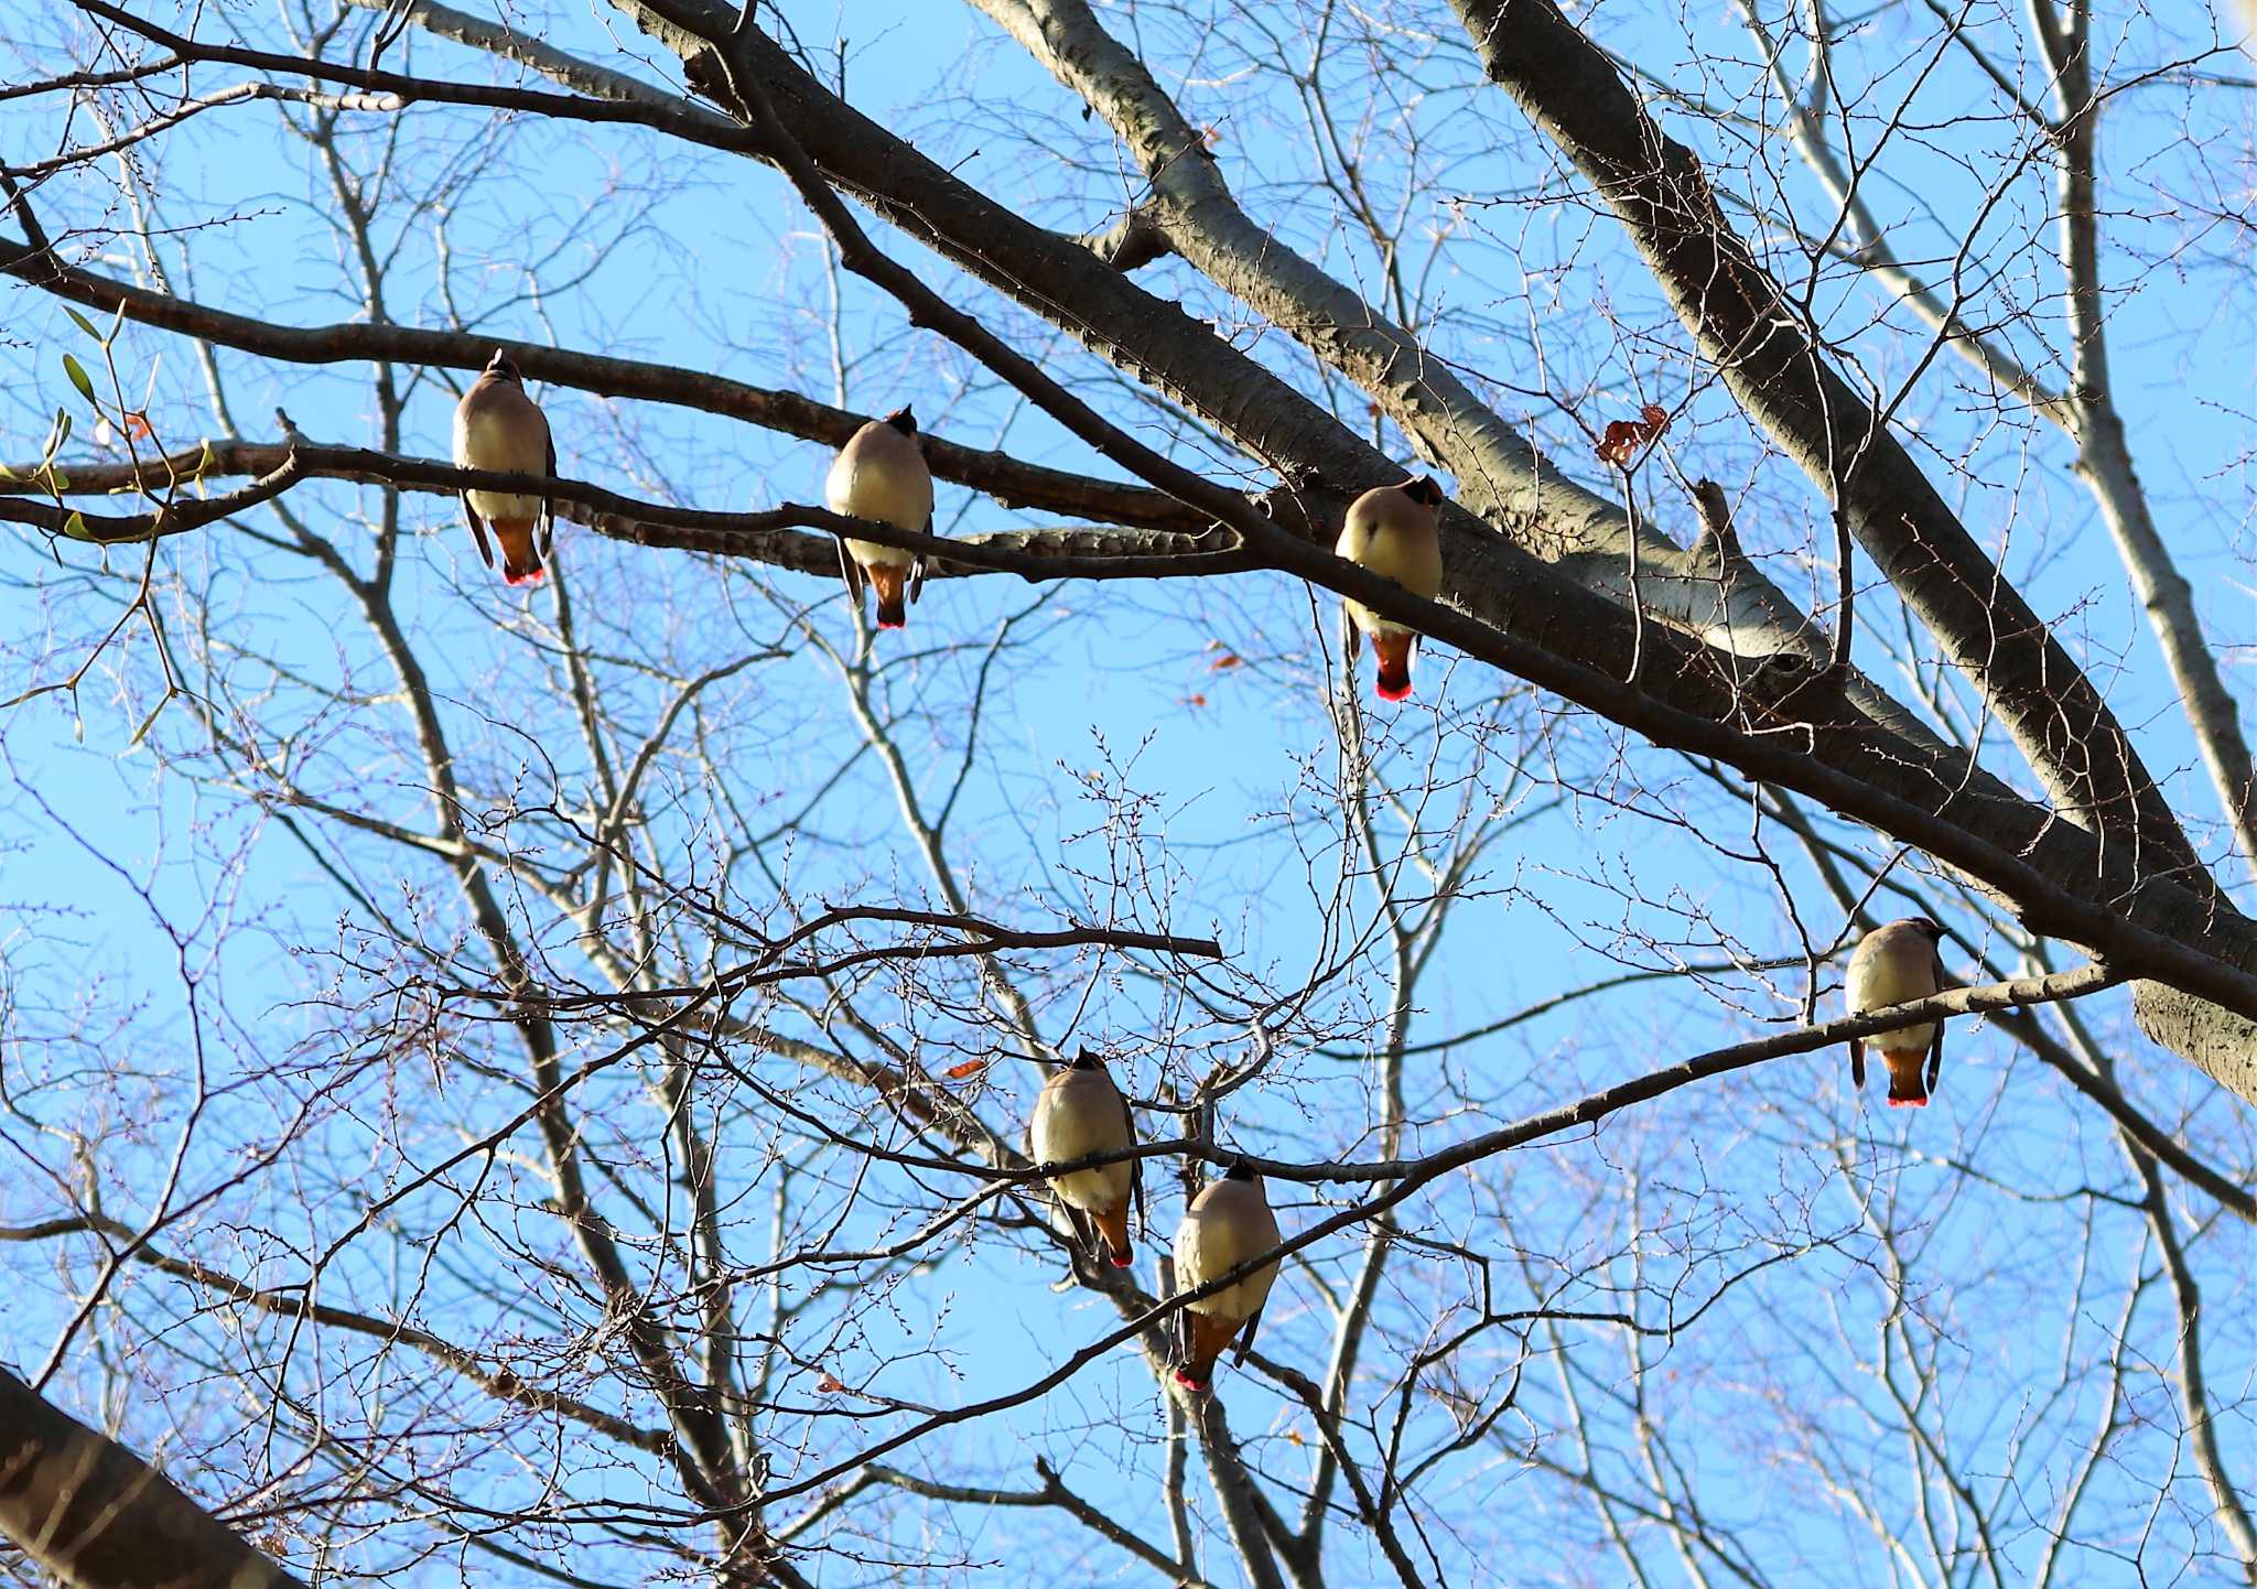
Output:
[[165,1474],[5,1368],[0,1535],[72,1589],[302,1589]]

